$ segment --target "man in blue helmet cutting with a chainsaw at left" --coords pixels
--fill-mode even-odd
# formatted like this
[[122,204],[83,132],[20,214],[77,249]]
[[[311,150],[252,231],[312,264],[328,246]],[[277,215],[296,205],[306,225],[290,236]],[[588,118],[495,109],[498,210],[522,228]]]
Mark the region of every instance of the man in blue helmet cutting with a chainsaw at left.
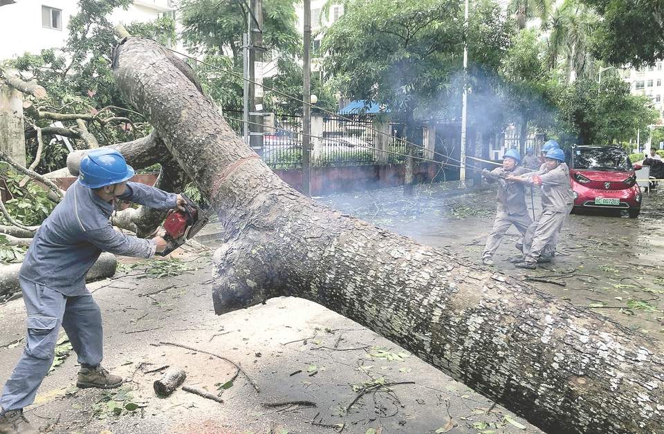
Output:
[[120,200],[175,209],[181,196],[129,182],[134,174],[122,155],[108,148],[89,151],[79,179],[37,230],[19,272],[28,312],[26,347],[0,397],[0,433],[37,432],[22,409],[33,403],[48,373],[62,325],[81,365],[80,388],[115,388],[122,378],[102,368],[102,317],[85,276],[102,251],[149,258],[165,249],[163,238],[127,236],[110,218]]

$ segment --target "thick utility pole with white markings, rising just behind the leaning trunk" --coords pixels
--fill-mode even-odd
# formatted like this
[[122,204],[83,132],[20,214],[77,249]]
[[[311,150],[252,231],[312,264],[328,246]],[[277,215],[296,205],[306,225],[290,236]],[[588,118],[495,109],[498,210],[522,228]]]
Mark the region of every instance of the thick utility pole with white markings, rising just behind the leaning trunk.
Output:
[[[250,0],[249,8],[249,146],[263,157],[263,0]],[[256,84],[255,84],[256,83]]]

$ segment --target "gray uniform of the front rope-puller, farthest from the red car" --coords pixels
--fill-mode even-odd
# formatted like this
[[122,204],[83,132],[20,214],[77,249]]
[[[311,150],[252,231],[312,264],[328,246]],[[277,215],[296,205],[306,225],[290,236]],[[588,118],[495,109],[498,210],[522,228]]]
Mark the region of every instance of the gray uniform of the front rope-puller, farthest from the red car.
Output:
[[533,222],[528,216],[524,185],[504,179],[508,175],[519,176],[526,172],[527,170],[523,167],[517,167],[513,171],[505,171],[502,167],[498,167],[488,173],[484,172],[488,182],[498,182],[498,205],[496,207],[496,220],[493,223],[491,233],[486,238],[482,258],[490,258],[495,254],[500,245],[500,240],[510,229],[510,226],[514,225],[523,236]]

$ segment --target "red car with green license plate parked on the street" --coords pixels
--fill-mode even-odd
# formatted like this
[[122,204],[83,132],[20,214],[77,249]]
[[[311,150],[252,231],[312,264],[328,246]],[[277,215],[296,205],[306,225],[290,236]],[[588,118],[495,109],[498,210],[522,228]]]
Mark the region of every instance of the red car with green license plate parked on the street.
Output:
[[570,178],[574,211],[625,210],[636,218],[641,211],[641,191],[627,152],[616,146],[572,147]]

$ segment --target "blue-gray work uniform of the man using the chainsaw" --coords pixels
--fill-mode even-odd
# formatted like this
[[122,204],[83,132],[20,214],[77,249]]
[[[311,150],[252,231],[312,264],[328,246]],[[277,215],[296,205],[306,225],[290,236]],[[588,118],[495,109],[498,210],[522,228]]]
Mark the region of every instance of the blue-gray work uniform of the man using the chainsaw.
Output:
[[[122,200],[158,209],[176,207],[177,195],[127,183]],[[102,250],[149,258],[156,243],[124,235],[111,226],[113,205],[77,181],[39,227],[19,272],[28,313],[21,359],[0,397],[3,411],[33,403],[48,373],[62,325],[82,365],[102,361],[102,317],[85,287],[85,276]]]

